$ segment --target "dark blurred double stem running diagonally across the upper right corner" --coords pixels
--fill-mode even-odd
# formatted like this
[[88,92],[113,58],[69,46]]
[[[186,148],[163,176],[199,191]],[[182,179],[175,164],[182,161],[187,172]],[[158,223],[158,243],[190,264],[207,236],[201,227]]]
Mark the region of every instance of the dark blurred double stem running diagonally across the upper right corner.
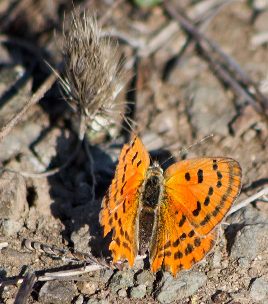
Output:
[[[258,98],[258,101],[261,104],[261,107],[263,109],[268,109],[268,100],[266,96],[264,96],[259,89],[257,88],[256,84],[253,83],[253,81],[238,67],[238,65],[235,63],[233,59],[231,59],[227,54],[225,54],[215,43],[213,43],[211,40],[206,38],[194,25],[192,22],[186,20],[183,16],[181,16],[178,12],[176,12],[167,1],[163,2],[165,9],[167,12],[177,20],[179,20],[181,26],[190,33],[199,43],[201,50],[204,53],[204,56],[210,60],[212,66],[214,67],[215,71],[219,74],[219,76],[227,82],[233,89],[238,93],[242,94],[243,97],[246,99],[247,102],[249,102],[254,109],[256,109],[257,112],[262,112],[262,109],[259,107],[259,105],[256,104],[256,102],[249,96],[249,94],[245,91],[245,89],[238,84],[238,82],[233,79],[230,76],[230,71],[225,71],[222,67],[223,64],[228,64],[228,66],[231,66],[231,68],[239,74],[239,76],[242,78],[242,81],[245,83],[245,85],[249,86],[252,85],[255,88],[256,91],[256,97]],[[218,62],[216,57],[212,55],[212,51],[218,54],[218,56],[223,60],[223,64],[221,62]]]

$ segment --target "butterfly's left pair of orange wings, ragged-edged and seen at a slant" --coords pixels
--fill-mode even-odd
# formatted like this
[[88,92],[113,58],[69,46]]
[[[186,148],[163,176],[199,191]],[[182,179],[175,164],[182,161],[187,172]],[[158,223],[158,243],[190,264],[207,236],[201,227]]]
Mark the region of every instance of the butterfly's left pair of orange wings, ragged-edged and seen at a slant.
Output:
[[104,236],[113,229],[113,263],[128,260],[130,267],[138,254],[139,192],[150,164],[148,151],[134,134],[130,145],[125,144],[119,157],[115,177],[102,201],[99,221]]

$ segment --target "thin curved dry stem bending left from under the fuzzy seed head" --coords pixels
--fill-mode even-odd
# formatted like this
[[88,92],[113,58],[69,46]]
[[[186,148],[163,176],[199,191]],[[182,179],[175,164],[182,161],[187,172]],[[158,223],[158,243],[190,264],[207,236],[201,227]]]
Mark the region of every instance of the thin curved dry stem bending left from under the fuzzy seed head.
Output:
[[81,116],[79,134],[78,134],[79,137],[78,137],[78,142],[75,147],[75,152],[68,158],[68,160],[62,166],[51,169],[51,170],[46,170],[46,171],[40,172],[40,173],[20,172],[20,174],[24,177],[32,177],[32,178],[48,177],[48,176],[58,173],[59,171],[61,171],[64,168],[68,167],[68,165],[71,164],[71,162],[74,161],[78,155],[78,152],[82,146],[83,138],[85,136],[85,130],[86,130],[85,118],[84,118],[84,116]]

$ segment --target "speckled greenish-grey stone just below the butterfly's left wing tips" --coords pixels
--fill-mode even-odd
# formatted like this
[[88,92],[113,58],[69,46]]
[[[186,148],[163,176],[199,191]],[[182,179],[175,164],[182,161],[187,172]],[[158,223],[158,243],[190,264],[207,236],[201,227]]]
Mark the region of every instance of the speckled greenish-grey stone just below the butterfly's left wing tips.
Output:
[[133,271],[128,268],[127,271],[117,271],[108,285],[108,288],[111,289],[111,292],[115,294],[117,290],[130,287],[134,285],[134,275]]

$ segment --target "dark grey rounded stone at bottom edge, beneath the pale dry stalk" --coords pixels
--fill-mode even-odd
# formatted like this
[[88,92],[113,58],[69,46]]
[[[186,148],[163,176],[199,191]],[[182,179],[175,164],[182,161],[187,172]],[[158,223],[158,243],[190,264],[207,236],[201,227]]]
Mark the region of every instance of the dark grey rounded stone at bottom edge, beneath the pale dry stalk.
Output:
[[69,281],[48,281],[40,289],[38,301],[43,303],[67,304],[75,296],[76,285]]

